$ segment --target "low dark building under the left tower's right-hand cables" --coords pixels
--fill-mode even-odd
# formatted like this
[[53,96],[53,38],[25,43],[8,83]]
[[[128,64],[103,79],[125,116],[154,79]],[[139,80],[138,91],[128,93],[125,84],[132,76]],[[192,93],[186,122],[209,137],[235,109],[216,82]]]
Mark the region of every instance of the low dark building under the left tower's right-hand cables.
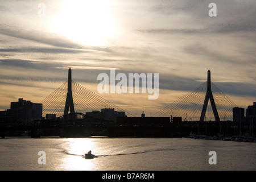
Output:
[[101,109],[101,112],[98,110],[93,110],[92,112],[85,113],[89,117],[104,119],[104,120],[113,120],[117,121],[117,117],[126,117],[125,112],[115,111],[114,108],[105,108]]

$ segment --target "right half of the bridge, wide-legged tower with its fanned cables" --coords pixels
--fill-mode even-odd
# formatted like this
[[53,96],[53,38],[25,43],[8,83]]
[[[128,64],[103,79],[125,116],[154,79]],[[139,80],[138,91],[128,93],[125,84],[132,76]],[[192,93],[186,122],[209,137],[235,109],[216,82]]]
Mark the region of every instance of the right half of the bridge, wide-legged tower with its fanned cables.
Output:
[[154,116],[182,117],[184,121],[232,121],[236,104],[213,82],[208,80],[175,102],[159,110]]

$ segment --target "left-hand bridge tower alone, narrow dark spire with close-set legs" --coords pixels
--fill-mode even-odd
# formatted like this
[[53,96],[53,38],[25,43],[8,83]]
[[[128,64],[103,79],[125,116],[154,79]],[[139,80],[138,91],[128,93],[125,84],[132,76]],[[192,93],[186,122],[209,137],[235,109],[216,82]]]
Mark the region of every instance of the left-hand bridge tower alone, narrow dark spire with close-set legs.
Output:
[[75,113],[73,96],[72,96],[72,78],[71,78],[71,68],[68,69],[68,93],[65,102],[64,115],[68,114],[68,110],[70,109],[70,113]]

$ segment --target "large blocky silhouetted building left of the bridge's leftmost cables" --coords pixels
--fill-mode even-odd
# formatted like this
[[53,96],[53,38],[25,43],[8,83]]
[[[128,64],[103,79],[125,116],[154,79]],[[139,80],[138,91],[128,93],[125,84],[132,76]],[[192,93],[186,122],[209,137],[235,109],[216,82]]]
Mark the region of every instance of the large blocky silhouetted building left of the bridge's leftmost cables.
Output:
[[43,105],[19,98],[18,102],[11,102],[6,116],[10,124],[30,125],[34,119],[42,119]]

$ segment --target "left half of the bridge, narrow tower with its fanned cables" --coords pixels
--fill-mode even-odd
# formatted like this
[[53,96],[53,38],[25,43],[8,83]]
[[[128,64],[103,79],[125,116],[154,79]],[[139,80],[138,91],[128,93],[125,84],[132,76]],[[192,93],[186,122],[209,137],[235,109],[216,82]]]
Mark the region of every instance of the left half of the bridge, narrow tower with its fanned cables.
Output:
[[[68,80],[59,88],[52,92],[42,102],[43,116],[46,114],[56,114],[57,117],[70,113],[86,113],[104,108],[114,108],[116,111],[125,111],[86,89],[71,79],[71,69],[69,68]],[[133,116],[125,111],[127,116]]]

